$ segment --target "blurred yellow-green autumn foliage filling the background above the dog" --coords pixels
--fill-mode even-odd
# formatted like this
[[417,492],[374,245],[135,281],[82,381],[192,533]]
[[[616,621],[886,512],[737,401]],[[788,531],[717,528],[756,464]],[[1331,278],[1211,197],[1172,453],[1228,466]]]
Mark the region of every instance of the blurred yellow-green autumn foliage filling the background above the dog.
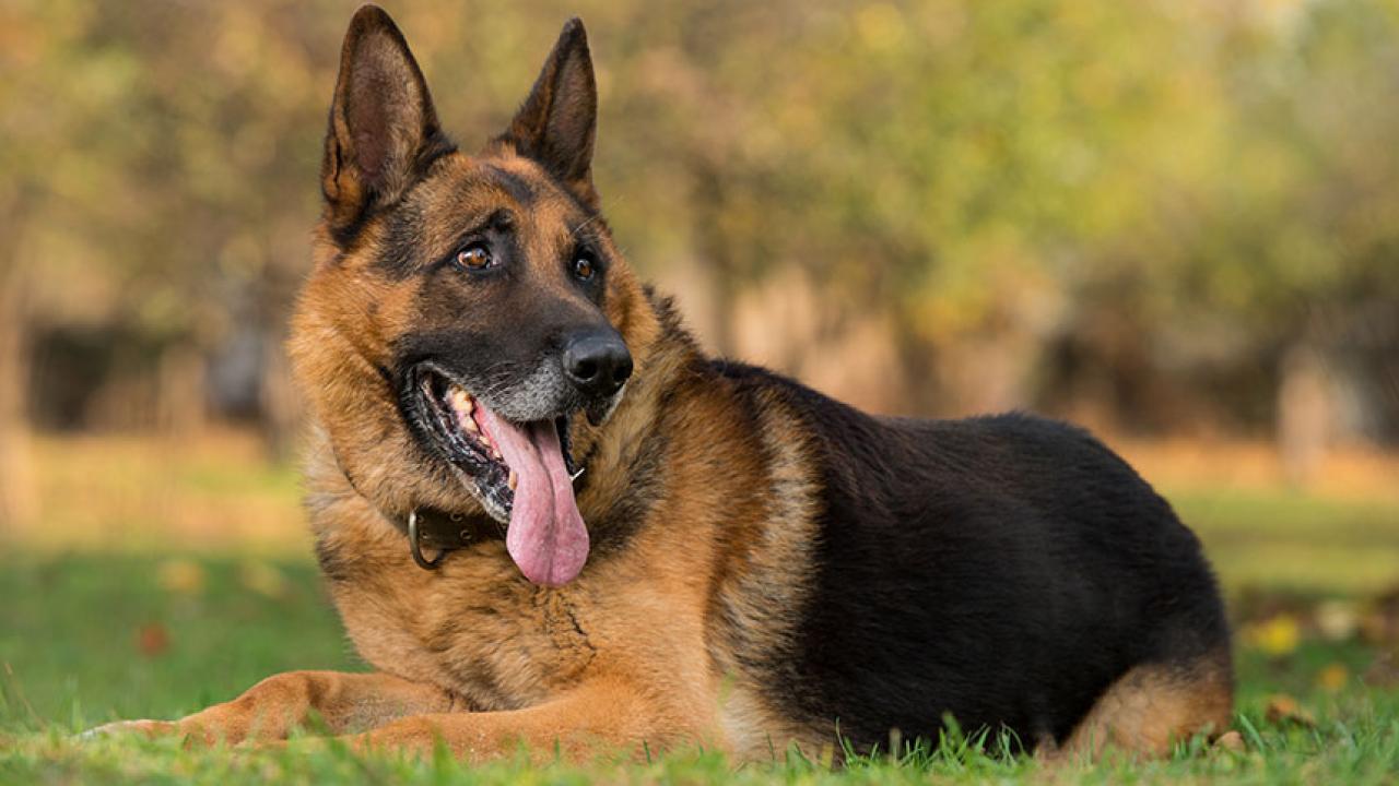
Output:
[[[35,336],[193,347],[222,357],[215,387],[277,373],[353,7],[0,4],[0,266]],[[1307,345],[1358,380],[1368,431],[1399,431],[1395,0],[389,10],[464,150],[588,21],[609,215],[644,270],[711,283],[720,350],[743,347],[734,294],[796,266],[834,329],[887,313],[908,408],[956,386],[957,347],[1010,344],[1010,404],[1097,375],[1140,417],[1219,385],[1270,425]]]

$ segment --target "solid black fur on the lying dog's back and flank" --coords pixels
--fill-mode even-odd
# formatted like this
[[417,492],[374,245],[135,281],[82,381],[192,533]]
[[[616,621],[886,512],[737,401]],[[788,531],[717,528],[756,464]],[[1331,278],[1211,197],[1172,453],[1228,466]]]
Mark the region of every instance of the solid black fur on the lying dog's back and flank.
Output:
[[1087,432],[874,418],[761,369],[722,372],[802,418],[824,478],[816,578],[772,691],[795,717],[835,719],[859,745],[929,734],[944,712],[1062,744],[1130,674],[1137,694],[1196,696],[1160,720],[1168,736],[1196,715],[1227,723],[1228,631],[1199,543]]

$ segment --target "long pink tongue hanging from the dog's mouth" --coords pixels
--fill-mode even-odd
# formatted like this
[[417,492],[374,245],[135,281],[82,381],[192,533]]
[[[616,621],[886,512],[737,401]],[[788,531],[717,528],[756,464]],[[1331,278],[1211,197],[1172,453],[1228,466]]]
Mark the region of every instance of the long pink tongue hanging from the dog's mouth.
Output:
[[519,427],[485,407],[477,407],[476,413],[505,463],[519,476],[505,533],[506,551],[536,585],[567,585],[588,561],[588,527],[574,499],[558,431],[551,421]]

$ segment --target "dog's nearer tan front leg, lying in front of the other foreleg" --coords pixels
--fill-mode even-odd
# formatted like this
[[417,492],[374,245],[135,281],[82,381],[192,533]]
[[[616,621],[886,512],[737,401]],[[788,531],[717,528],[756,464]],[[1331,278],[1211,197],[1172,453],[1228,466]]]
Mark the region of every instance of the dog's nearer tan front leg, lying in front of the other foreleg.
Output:
[[441,741],[457,758],[481,761],[523,745],[533,755],[558,754],[579,761],[592,754],[635,755],[686,738],[700,740],[702,719],[656,706],[625,683],[596,683],[525,709],[473,713],[431,713],[395,720],[346,737],[354,750],[428,754]]

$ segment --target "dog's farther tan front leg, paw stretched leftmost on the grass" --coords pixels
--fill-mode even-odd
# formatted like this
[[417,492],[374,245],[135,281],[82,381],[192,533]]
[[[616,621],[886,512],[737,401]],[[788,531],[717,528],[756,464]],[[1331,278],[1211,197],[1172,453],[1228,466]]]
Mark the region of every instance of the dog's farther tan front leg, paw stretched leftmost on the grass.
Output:
[[374,729],[390,720],[462,709],[460,699],[438,688],[389,674],[287,671],[269,677],[234,701],[214,705],[180,720],[122,720],[88,736],[139,731],[148,736],[185,734],[204,743],[283,740],[312,713],[336,734]]

